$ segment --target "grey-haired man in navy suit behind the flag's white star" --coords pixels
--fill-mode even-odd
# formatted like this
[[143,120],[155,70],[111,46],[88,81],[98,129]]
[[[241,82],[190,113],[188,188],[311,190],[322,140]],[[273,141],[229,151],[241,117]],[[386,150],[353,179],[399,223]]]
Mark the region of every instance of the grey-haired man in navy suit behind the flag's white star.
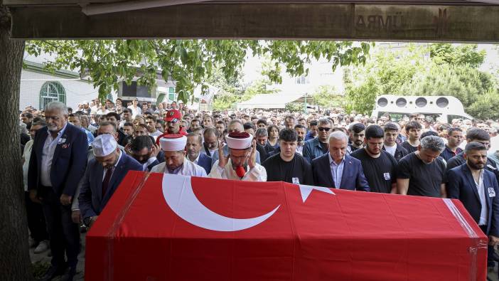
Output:
[[313,182],[316,186],[370,191],[362,164],[346,154],[347,146],[348,137],[344,132],[336,131],[329,135],[329,153],[312,160]]

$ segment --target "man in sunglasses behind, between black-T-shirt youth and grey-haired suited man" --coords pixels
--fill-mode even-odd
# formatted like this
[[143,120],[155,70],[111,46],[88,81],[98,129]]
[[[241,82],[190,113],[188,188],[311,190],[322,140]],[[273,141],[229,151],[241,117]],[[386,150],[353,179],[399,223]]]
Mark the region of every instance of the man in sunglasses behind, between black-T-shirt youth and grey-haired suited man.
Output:
[[304,145],[304,158],[308,163],[312,163],[313,159],[321,157],[329,150],[328,137],[333,124],[328,118],[321,118],[318,120],[318,134],[315,139],[310,139]]

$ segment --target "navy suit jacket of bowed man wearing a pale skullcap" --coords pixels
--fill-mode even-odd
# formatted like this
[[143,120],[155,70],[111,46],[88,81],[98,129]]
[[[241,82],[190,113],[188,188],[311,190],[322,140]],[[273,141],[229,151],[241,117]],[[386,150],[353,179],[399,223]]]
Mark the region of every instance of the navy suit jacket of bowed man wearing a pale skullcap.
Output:
[[98,216],[119,184],[121,184],[124,176],[126,176],[127,172],[130,170],[142,171],[142,165],[122,152],[122,158],[119,159],[118,165],[114,169],[111,179],[109,180],[109,187],[107,188],[104,197],[102,197],[104,168],[97,160],[90,160],[87,169],[85,170],[85,175],[80,183],[81,189],[80,196],[78,197],[82,218]]

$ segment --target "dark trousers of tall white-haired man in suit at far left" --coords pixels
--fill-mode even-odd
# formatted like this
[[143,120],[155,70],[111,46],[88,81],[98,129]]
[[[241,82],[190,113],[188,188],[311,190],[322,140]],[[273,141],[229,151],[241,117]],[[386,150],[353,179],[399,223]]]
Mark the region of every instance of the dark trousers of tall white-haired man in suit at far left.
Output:
[[52,265],[76,267],[78,253],[80,253],[80,232],[78,225],[71,220],[71,206],[63,206],[60,196],[55,194],[51,187],[43,186],[43,214],[47,223],[52,250]]

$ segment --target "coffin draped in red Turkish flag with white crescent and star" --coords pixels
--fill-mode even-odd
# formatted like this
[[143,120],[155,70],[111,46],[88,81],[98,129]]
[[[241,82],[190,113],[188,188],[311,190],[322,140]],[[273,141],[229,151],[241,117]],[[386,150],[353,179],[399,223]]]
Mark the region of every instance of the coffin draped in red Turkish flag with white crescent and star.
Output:
[[485,280],[486,242],[459,201],[131,171],[85,279]]

